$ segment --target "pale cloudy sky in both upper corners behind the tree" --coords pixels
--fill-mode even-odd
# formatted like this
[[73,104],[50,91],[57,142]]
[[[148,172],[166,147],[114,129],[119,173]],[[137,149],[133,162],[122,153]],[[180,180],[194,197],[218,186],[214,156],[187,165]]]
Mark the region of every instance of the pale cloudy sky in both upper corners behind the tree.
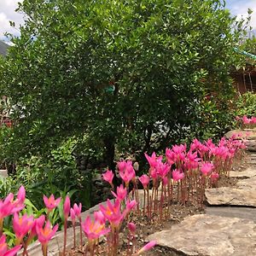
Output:
[[[23,15],[15,13],[18,2],[23,0],[0,0],[0,40],[8,41],[4,37],[4,32],[19,35],[19,25],[24,22]],[[226,0],[226,7],[230,9],[232,15],[247,16],[247,9],[253,9],[251,26],[256,29],[256,0]],[[9,20],[15,21],[17,28],[9,26]]]

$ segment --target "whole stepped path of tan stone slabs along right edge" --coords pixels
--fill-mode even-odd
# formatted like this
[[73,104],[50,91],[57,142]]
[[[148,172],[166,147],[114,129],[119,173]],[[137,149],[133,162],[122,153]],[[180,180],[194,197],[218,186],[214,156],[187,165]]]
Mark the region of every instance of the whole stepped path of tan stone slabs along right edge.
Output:
[[[256,151],[256,137],[251,143]],[[254,150],[254,149],[253,149]],[[248,154],[246,170],[230,172],[241,180],[236,188],[207,189],[206,214],[185,218],[170,230],[148,236],[177,255],[256,255],[256,154]]]

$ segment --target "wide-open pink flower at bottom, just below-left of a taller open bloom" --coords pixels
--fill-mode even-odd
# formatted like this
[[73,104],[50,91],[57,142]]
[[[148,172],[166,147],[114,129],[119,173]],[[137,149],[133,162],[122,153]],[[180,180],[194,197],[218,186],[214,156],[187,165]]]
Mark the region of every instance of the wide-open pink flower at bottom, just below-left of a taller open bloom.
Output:
[[96,240],[100,236],[108,234],[110,231],[110,229],[106,229],[105,225],[101,224],[99,221],[92,221],[89,216],[84,220],[82,229],[85,236],[87,236],[88,240],[90,241]]

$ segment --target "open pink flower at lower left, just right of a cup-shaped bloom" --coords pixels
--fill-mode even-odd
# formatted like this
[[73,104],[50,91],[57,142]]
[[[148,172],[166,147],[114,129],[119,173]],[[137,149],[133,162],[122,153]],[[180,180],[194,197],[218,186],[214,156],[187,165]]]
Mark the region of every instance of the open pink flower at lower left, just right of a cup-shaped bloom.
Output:
[[53,236],[55,236],[56,231],[58,230],[58,224],[55,224],[53,228],[49,223],[49,220],[46,222],[43,228],[42,223],[38,223],[36,226],[37,234],[38,234],[38,241],[41,242],[42,245],[48,244]]

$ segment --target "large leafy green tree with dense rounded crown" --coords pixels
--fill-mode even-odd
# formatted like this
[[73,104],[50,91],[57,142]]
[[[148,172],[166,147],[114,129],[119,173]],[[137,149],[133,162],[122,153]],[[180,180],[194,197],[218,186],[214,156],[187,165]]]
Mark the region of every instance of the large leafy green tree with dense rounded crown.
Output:
[[202,136],[201,101],[232,95],[239,34],[222,1],[24,0],[20,11],[0,74],[13,159],[75,136],[114,168],[116,148],[142,155]]

